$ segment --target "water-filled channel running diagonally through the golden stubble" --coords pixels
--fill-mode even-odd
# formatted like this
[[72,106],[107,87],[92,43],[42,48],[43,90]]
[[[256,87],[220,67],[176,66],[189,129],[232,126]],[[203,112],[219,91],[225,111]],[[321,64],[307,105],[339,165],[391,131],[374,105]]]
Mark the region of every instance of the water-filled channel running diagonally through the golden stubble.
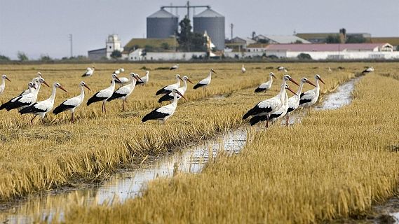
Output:
[[[325,95],[323,102],[316,106],[318,110],[339,109],[351,103],[351,92],[358,78],[339,85],[337,90]],[[292,116],[290,123],[298,122],[303,113]],[[218,134],[215,138],[181,147],[177,153],[154,158],[144,162],[137,169],[123,170],[111,176],[101,186],[66,190],[62,193],[31,196],[2,211],[0,220],[4,223],[32,223],[34,221],[62,221],[65,208],[71,202],[79,202],[85,206],[123,202],[129,198],[140,196],[146,183],[158,177],[173,176],[177,172],[201,172],[208,160],[215,158],[220,151],[239,153],[245,146],[247,128],[239,127]]]

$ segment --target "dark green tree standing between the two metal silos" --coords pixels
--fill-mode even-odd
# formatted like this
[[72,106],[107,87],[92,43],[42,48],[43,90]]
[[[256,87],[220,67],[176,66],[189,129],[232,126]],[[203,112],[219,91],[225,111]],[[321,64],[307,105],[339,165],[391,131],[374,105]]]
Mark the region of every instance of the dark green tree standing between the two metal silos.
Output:
[[190,20],[186,17],[179,23],[180,33],[177,34],[177,42],[180,50],[183,51],[205,51],[206,39],[202,34],[196,34],[191,31]]

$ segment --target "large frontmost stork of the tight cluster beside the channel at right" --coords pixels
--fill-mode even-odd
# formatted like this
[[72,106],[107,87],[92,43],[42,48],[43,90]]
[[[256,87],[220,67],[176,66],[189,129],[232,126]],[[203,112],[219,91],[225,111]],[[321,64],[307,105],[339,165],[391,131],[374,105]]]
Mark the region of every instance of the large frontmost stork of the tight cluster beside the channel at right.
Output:
[[291,78],[291,76],[284,75],[283,76],[283,84],[280,87],[280,92],[276,95],[276,97],[266,99],[262,102],[259,102],[252,109],[250,109],[245,115],[243,119],[246,119],[250,116],[266,116],[266,127],[269,127],[269,116],[271,113],[276,112],[283,105],[284,97],[285,97],[285,84],[290,80],[295,85],[298,85],[295,80]]

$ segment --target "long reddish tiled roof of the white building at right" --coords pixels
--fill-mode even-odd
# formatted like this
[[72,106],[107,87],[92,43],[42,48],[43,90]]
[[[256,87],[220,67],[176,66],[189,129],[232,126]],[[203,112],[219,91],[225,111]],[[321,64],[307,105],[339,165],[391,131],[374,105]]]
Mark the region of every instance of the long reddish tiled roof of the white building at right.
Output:
[[289,51],[343,51],[343,50],[373,50],[385,43],[299,43],[299,44],[270,44],[266,50]]

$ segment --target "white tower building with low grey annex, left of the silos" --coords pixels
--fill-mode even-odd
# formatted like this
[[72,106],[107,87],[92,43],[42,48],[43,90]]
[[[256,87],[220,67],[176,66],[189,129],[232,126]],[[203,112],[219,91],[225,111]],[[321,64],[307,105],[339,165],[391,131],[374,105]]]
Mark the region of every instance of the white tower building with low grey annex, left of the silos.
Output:
[[88,58],[93,61],[100,59],[111,59],[111,54],[114,52],[114,50],[123,52],[121,40],[117,34],[109,34],[107,40],[105,41],[105,48],[89,50]]

